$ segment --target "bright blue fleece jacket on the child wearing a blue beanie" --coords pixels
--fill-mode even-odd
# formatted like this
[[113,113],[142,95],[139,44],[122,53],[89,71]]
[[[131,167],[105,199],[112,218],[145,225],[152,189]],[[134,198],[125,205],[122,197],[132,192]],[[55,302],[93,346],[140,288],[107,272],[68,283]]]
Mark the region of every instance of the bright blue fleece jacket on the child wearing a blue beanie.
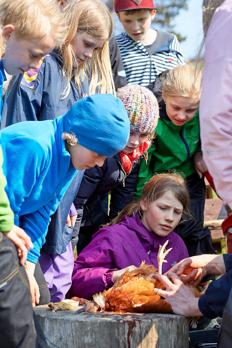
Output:
[[6,192],[15,224],[34,244],[27,257],[34,263],[45,243],[50,215],[77,173],[65,149],[63,132],[63,116],[37,122],[36,127],[33,121],[27,121],[0,131]]

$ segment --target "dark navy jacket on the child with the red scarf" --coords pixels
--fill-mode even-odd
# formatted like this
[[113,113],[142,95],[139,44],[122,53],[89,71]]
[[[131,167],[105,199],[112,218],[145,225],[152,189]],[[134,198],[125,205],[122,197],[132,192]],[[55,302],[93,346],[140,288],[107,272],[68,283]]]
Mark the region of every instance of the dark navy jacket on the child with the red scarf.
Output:
[[80,226],[90,226],[103,214],[100,195],[111,191],[110,219],[113,219],[128,204],[135,193],[138,167],[142,156],[126,175],[119,154],[107,157],[102,167],[86,169],[77,197],[74,200],[77,209],[76,231]]

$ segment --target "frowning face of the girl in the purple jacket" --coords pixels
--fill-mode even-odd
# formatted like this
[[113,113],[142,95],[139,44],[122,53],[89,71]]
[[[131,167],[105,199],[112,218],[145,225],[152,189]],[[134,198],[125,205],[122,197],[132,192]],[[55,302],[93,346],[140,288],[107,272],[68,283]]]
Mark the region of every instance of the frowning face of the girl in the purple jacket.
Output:
[[165,192],[160,198],[148,204],[141,202],[144,226],[158,236],[166,237],[181,220],[183,205],[171,191]]

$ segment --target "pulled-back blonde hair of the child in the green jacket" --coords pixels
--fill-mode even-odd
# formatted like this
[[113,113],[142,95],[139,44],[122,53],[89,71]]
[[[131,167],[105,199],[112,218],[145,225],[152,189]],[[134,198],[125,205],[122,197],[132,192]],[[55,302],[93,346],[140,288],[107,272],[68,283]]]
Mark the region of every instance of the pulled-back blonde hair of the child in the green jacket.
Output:
[[187,97],[197,104],[201,96],[202,72],[192,64],[176,66],[163,73],[161,87],[165,95]]

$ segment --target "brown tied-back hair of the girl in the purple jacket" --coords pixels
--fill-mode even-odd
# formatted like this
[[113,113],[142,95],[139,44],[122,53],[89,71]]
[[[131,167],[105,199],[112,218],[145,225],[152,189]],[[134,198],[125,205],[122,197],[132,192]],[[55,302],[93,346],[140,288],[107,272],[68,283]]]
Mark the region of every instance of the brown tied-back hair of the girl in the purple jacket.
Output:
[[112,226],[119,223],[125,215],[131,216],[134,212],[139,212],[142,217],[141,201],[147,201],[148,204],[152,203],[167,191],[171,191],[183,205],[182,222],[183,219],[188,220],[191,217],[189,210],[189,191],[183,177],[178,174],[156,174],[144,185],[140,199],[128,204],[117,217],[105,226]]

